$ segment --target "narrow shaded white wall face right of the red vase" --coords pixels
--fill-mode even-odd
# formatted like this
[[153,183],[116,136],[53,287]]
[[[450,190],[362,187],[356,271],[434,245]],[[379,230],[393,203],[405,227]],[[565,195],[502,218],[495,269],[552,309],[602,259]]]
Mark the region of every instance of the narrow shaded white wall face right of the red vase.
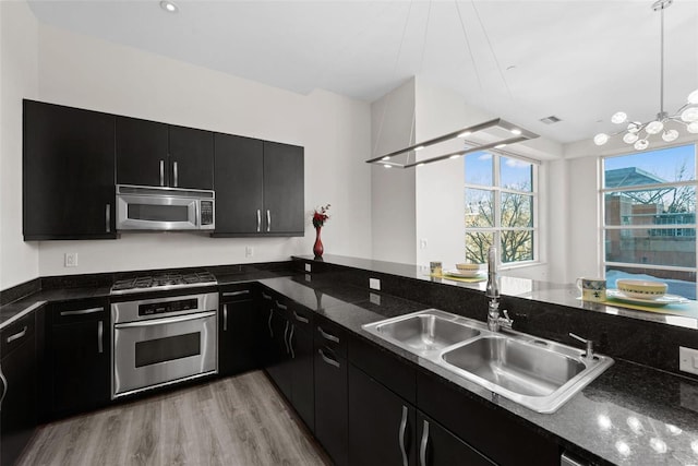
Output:
[[[413,79],[374,101],[371,106],[371,157],[413,144]],[[413,168],[371,166],[373,259],[416,263],[414,188]]]

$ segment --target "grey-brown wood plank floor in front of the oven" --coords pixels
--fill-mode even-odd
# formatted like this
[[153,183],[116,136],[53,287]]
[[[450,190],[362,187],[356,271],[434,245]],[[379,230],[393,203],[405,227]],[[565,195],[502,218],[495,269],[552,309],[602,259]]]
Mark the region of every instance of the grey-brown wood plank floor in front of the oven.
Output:
[[329,465],[261,371],[43,426],[19,465]]

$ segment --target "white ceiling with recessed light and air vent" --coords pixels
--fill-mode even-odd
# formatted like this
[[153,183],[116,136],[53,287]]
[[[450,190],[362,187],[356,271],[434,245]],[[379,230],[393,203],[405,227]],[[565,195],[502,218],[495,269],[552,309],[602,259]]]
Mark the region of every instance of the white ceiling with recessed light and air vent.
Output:
[[[561,143],[612,131],[617,110],[660,109],[651,0],[176,2],[171,14],[158,0],[29,0],[44,23],[302,94],[372,101],[417,75]],[[696,88],[698,0],[675,0],[665,109]]]

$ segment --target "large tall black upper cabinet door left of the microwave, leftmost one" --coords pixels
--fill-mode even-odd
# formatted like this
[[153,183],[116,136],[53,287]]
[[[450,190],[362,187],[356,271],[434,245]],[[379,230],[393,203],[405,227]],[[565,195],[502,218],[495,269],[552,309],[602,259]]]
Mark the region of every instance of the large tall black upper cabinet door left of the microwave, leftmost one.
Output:
[[116,238],[115,117],[24,100],[25,240]]

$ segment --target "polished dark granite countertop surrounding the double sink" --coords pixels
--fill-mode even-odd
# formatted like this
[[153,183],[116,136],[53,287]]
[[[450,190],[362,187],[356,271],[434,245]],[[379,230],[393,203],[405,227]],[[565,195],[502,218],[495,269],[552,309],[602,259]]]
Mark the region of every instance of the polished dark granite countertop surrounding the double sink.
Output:
[[698,464],[698,383],[645,366],[617,360],[554,414],[538,414],[362,330],[361,325],[428,308],[332,278],[310,276],[262,279],[293,299],[407,360],[448,380],[469,396],[517,415],[552,434],[617,465]]

